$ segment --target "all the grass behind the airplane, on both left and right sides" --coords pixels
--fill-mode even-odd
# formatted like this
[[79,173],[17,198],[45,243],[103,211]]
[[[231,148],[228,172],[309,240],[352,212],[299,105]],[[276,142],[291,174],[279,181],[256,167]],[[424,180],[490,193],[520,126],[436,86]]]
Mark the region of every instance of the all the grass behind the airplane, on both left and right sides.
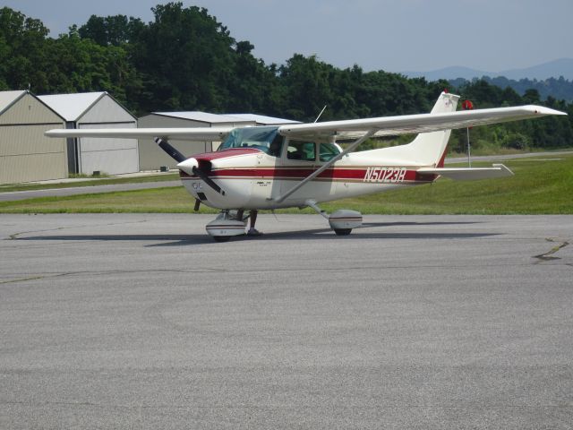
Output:
[[[470,182],[441,178],[432,185],[322,203],[321,208],[364,214],[573,214],[573,156],[512,159],[506,165],[515,176]],[[0,213],[192,212],[193,203],[183,187],[167,187],[0,202]],[[201,213],[208,212],[217,211],[201,206]]]

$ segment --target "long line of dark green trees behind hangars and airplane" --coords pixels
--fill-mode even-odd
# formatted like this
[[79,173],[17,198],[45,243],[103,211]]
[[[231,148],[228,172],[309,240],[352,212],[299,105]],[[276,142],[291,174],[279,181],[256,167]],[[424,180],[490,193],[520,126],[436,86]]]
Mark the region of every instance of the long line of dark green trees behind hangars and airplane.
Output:
[[[321,121],[427,112],[448,88],[476,107],[545,104],[568,118],[477,127],[475,142],[498,146],[557,148],[573,142],[573,105],[538,90],[520,95],[485,81],[408,79],[397,73],[339,69],[316,56],[295,55],[285,64],[265,64],[249,41],[233,39],[204,8],[182,3],[152,8],[154,20],[92,15],[67,34],[49,38],[42,22],[8,7],[0,9],[0,90],[36,94],[107,90],[143,115],[152,111],[252,112]],[[461,134],[454,136],[460,141]],[[485,144],[485,143],[484,143]]]

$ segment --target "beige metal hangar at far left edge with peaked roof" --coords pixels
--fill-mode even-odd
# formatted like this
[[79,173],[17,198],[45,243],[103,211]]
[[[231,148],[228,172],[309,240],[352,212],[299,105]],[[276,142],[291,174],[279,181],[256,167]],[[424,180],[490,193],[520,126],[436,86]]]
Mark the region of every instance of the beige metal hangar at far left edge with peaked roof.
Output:
[[0,184],[67,177],[65,139],[44,136],[64,126],[30,91],[0,91]]

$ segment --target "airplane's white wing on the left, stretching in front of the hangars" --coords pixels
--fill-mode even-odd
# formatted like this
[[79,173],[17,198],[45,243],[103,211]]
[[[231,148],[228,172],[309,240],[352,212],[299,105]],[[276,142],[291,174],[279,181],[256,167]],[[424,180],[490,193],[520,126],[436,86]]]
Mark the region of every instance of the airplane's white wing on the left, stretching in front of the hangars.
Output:
[[159,137],[169,141],[220,141],[234,127],[195,127],[195,128],[99,128],[49,130],[48,137],[107,137],[122,139],[145,139]]

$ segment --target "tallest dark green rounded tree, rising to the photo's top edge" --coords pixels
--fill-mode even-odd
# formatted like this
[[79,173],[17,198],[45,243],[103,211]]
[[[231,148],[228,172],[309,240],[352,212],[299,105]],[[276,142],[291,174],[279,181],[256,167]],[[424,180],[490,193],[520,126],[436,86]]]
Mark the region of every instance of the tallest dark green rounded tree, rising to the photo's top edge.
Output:
[[144,90],[133,94],[143,111],[221,111],[229,98],[235,40],[207,10],[182,3],[152,8],[155,21],[133,41],[133,64]]

